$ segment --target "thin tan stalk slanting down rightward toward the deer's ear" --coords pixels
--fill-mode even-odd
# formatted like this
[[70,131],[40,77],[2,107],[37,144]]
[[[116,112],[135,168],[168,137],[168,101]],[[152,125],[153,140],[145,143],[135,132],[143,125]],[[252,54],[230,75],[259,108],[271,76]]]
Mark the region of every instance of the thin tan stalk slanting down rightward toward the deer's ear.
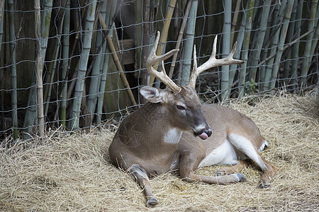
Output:
[[[105,24],[105,22],[103,20],[103,17],[101,17],[101,14],[100,14],[100,20],[101,20],[101,24],[103,26],[103,29],[107,30],[106,24]],[[118,69],[118,71],[120,72],[121,80],[123,81],[123,86],[126,88],[125,90],[128,93],[128,96],[130,97],[130,101],[133,103],[133,105],[137,105],[136,102],[135,102],[135,98],[134,98],[134,95],[132,93],[132,90],[130,90],[130,84],[128,83],[128,80],[127,80],[127,78],[125,76],[125,73],[124,73],[124,71],[122,69],[121,63],[120,63],[120,61],[118,59],[118,55],[116,54],[116,49],[115,49],[115,47],[113,45],[111,36],[108,34],[106,39],[107,39],[107,42],[108,42],[108,48],[112,52],[111,55],[112,55],[114,63],[116,64],[116,69]]]

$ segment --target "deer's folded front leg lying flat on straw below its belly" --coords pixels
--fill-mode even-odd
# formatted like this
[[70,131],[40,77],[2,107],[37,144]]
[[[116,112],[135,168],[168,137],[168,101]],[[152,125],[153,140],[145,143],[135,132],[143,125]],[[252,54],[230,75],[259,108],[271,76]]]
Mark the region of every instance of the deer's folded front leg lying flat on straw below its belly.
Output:
[[188,153],[186,155],[181,155],[179,167],[179,174],[181,175],[181,178],[186,182],[201,181],[208,184],[230,184],[233,182],[246,181],[246,177],[240,173],[220,177],[196,175],[194,170],[196,170],[200,162],[201,159],[198,160],[198,155],[196,154]]

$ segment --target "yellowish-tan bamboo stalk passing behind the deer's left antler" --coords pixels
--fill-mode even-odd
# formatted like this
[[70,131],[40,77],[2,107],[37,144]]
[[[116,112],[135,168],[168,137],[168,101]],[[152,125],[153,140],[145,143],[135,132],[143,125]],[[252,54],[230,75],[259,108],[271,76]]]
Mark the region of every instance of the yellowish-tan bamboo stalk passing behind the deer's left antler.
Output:
[[[164,42],[167,40],[167,34],[168,34],[168,30],[169,30],[169,25],[171,23],[172,20],[172,16],[173,16],[173,12],[174,12],[174,8],[176,5],[176,1],[177,0],[170,0],[169,1],[169,6],[167,8],[166,11],[166,16],[165,16],[165,20],[164,20],[164,26],[162,28],[162,32],[161,32],[161,38],[159,40],[159,47],[157,48],[157,55],[161,55],[163,54],[163,50],[164,50]],[[155,64],[155,69],[158,69],[158,64]],[[150,81],[149,81],[149,85],[151,86],[152,83],[154,83],[155,80],[155,76],[151,75],[150,76]]]

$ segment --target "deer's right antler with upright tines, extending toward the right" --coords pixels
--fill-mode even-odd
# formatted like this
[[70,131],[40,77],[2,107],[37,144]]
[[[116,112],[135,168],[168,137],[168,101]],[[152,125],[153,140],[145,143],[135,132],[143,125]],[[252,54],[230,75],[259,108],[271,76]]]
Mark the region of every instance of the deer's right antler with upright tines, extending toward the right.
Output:
[[[233,56],[236,52],[237,42],[235,42],[232,51],[228,55],[228,57],[224,59],[216,59],[216,49],[217,49],[217,35],[213,42],[213,51],[211,52],[211,57],[206,61],[204,64],[197,68],[193,68],[193,73],[191,73],[191,77],[189,78],[189,85],[193,88],[196,86],[196,78],[197,76],[207,69],[211,69],[216,66],[226,66],[226,65],[232,65],[232,64],[243,64],[245,61],[242,61],[240,59],[233,59]],[[196,50],[194,49],[194,52]],[[194,65],[196,64],[196,52],[194,54]]]

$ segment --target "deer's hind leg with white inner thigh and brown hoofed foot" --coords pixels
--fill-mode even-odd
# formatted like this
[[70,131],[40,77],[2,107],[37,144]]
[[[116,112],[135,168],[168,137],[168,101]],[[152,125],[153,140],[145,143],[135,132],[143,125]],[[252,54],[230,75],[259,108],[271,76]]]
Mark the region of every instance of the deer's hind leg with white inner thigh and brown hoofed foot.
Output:
[[259,151],[257,151],[257,148],[255,148],[252,145],[252,142],[244,136],[230,134],[229,141],[263,170],[264,173],[260,180],[260,187],[262,189],[269,188],[272,182],[272,177],[276,174],[276,167],[270,164],[267,160],[264,160]]

